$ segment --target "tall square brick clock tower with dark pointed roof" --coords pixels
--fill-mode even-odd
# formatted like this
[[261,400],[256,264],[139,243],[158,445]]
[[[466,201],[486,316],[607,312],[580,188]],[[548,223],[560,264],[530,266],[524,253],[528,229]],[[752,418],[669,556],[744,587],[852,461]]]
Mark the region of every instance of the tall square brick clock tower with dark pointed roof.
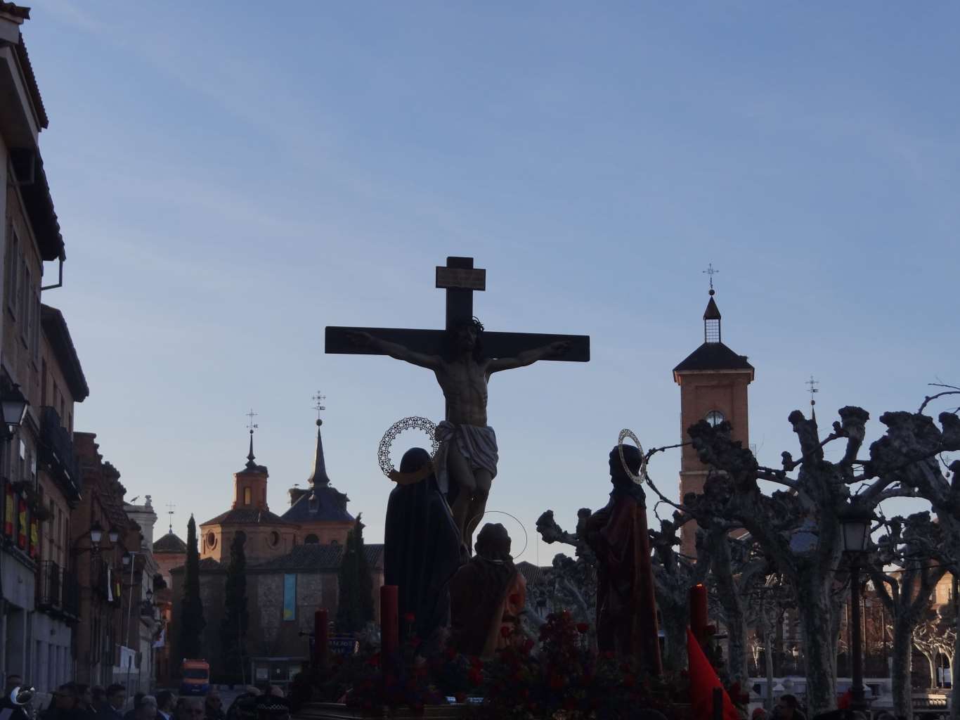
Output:
[[[744,447],[750,446],[750,426],[747,417],[747,386],[754,379],[754,367],[746,355],[738,355],[721,342],[720,309],[710,299],[704,312],[704,344],[686,356],[673,369],[673,379],[680,385],[680,417],[683,441],[689,440],[686,429],[700,420],[717,425],[729,420],[732,439]],[[686,492],[702,492],[707,479],[707,466],[700,462],[691,445],[682,448],[680,464],[680,497]],[[684,525],[681,551],[693,557],[696,554],[697,526]]]

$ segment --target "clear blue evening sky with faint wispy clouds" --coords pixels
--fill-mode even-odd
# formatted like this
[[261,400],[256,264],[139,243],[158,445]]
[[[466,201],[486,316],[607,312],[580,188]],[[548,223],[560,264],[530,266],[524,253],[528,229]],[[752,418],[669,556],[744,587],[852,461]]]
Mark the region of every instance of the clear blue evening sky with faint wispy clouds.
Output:
[[[559,549],[543,510],[572,529],[606,503],[621,428],[680,442],[671,370],[703,340],[708,263],[756,367],[760,461],[796,454],[811,374],[825,432],[855,404],[876,439],[883,411],[960,381],[958,22],[948,3],[38,0],[67,252],[43,301],[90,385],[76,428],[183,537],[228,509],[251,408],[283,512],[320,390],[328,473],[382,540],[377,445],[443,396],[324,354],[324,326],[443,327],[434,267],[468,255],[489,329],[590,336],[588,364],[491,381],[485,521],[522,560]],[[395,462],[426,442],[405,433]],[[679,467],[650,471],[676,495]]]

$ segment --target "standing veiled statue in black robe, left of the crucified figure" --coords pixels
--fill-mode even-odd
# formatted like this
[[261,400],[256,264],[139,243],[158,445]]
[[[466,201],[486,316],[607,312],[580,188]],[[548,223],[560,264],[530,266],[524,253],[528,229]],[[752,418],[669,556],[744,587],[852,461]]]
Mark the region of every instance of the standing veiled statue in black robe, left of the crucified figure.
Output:
[[[403,454],[400,472],[416,472],[430,462],[422,447]],[[447,582],[461,563],[460,532],[431,472],[420,482],[397,485],[387,501],[384,528],[385,585],[396,585],[400,627],[414,616],[420,655],[443,649],[450,624]]]

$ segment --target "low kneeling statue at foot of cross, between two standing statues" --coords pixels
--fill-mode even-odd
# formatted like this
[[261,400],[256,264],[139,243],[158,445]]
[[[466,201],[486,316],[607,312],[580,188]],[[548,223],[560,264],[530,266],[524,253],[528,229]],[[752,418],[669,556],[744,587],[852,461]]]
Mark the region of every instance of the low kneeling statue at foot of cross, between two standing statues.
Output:
[[491,658],[498,648],[522,641],[517,630],[527,586],[503,525],[484,525],[475,549],[450,580],[450,644],[464,655]]

